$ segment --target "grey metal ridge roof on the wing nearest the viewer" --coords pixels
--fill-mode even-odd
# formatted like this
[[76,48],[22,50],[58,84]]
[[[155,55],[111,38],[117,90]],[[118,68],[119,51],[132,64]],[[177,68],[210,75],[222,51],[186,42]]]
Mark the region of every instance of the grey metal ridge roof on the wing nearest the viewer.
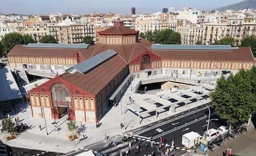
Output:
[[116,54],[117,53],[115,51],[109,49],[105,52],[97,54],[96,56],[88,58],[86,61],[76,64],[76,66],[73,66],[66,71],[70,73],[73,73],[74,71],[80,71],[81,73],[90,72],[92,69],[106,62],[110,58],[114,57]]

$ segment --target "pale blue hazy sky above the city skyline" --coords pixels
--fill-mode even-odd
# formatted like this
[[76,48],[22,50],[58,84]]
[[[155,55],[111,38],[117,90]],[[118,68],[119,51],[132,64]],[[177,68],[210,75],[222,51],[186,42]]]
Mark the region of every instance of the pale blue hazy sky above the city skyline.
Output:
[[0,0],[0,13],[49,14],[81,13],[154,13],[163,7],[214,9],[242,0]]

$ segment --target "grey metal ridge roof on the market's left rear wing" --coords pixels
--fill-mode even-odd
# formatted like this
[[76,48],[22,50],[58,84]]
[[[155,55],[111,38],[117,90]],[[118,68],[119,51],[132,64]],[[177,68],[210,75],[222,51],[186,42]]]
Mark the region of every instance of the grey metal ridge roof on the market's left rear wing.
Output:
[[28,43],[27,48],[71,48],[87,49],[89,44],[46,44],[46,43]]

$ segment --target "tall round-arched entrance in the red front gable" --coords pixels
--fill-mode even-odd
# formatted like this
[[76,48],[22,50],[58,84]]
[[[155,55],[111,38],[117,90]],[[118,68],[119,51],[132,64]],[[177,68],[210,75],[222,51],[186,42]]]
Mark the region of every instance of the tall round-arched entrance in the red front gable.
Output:
[[56,83],[52,86],[51,94],[55,118],[59,119],[67,114],[71,119],[73,114],[70,89],[63,83]]

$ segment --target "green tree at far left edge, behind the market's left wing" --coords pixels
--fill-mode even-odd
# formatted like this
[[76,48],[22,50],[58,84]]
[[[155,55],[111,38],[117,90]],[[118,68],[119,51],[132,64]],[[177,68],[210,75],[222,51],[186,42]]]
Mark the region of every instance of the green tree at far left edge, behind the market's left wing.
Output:
[[8,33],[2,38],[2,51],[9,53],[16,44],[23,44],[23,37],[19,33]]

